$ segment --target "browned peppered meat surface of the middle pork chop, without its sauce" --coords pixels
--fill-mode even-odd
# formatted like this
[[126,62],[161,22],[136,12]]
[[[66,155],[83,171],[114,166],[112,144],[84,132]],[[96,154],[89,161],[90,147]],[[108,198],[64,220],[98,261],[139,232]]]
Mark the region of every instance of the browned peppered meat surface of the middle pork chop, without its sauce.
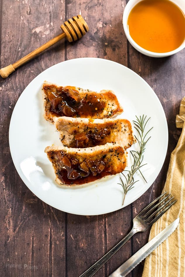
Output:
[[[66,116],[54,117],[54,125],[59,132],[60,141],[64,146],[76,148],[75,135],[91,132],[97,134],[102,129],[108,130],[108,135],[98,143],[117,143],[123,148],[129,148],[136,142],[132,125],[127,119],[87,119],[87,118],[69,118]],[[95,146],[93,141],[89,141],[88,147]]]

